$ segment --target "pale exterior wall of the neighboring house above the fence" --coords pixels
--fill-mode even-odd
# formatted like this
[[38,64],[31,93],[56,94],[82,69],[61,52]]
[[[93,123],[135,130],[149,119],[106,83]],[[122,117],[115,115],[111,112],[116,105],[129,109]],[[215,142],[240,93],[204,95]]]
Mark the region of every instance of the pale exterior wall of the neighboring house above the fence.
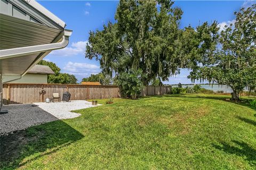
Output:
[[[13,75],[3,75],[3,79],[15,79]],[[19,80],[14,80],[9,83],[33,83],[33,84],[43,84],[47,83],[47,74],[32,74],[27,73]]]

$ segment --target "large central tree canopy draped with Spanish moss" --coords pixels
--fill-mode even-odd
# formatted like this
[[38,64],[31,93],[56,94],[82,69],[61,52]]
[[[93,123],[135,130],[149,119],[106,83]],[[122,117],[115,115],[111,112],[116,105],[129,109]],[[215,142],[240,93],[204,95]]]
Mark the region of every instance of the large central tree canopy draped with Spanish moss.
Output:
[[147,75],[144,84],[179,73],[182,11],[172,5],[170,0],[121,0],[116,23],[90,32],[86,57],[99,60],[103,73],[109,75],[141,69]]

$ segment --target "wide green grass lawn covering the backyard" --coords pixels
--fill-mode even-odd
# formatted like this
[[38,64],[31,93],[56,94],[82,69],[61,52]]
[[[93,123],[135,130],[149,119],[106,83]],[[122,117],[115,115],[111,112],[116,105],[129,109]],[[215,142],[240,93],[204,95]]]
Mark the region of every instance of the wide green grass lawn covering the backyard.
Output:
[[2,168],[255,169],[256,111],[246,98],[225,98],[114,99],[81,109],[80,117],[27,129],[28,142]]

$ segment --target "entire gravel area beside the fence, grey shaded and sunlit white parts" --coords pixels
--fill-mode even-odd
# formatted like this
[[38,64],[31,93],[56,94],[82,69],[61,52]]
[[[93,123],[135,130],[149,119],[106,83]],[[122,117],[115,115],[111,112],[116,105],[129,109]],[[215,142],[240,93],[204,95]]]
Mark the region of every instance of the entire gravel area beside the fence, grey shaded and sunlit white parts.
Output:
[[0,114],[0,135],[24,130],[30,126],[46,122],[78,117],[81,114],[70,111],[89,107],[95,106],[92,106],[91,102],[85,100],[6,105],[2,109],[8,110],[9,113]]

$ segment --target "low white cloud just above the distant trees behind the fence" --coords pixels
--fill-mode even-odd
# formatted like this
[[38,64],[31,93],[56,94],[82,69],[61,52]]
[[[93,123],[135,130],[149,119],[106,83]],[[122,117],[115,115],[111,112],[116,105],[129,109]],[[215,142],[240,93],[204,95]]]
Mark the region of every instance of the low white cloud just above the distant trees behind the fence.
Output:
[[87,63],[68,62],[65,67],[63,67],[64,73],[74,74],[78,80],[89,77],[91,74],[98,74],[100,71],[100,66]]

